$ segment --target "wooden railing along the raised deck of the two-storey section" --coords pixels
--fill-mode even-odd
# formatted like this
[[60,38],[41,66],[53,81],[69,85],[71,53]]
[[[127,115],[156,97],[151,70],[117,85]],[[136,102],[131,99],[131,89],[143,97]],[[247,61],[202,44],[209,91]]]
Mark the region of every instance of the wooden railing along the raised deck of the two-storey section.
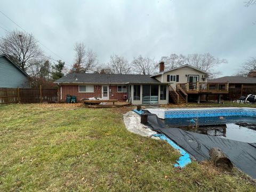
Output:
[[202,83],[202,82],[196,82],[196,83],[179,83],[178,84],[181,89],[183,89],[185,92],[210,92],[210,91],[228,91],[228,83]]

